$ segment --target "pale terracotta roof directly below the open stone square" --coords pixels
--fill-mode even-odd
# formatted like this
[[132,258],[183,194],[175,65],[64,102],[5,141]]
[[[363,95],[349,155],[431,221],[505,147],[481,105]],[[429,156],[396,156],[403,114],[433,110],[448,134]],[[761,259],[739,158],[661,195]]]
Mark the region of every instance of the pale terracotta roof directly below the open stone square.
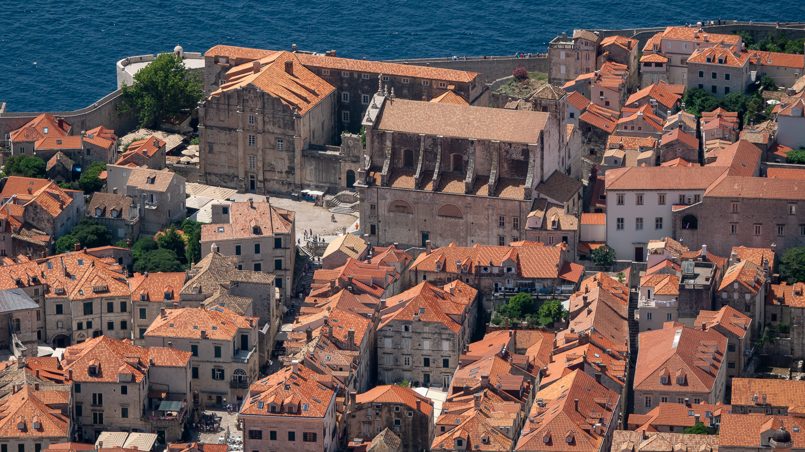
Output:
[[290,234],[295,217],[295,212],[266,201],[233,202],[229,204],[229,223],[201,226],[201,242]]

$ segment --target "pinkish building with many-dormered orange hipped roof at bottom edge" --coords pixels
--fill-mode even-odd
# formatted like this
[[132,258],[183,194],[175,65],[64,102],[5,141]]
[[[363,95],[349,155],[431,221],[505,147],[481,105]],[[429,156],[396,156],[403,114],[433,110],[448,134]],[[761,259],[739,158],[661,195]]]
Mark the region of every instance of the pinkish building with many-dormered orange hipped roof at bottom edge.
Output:
[[239,415],[244,449],[334,452],[343,434],[336,424],[344,405],[336,401],[339,389],[332,376],[296,362],[255,381]]

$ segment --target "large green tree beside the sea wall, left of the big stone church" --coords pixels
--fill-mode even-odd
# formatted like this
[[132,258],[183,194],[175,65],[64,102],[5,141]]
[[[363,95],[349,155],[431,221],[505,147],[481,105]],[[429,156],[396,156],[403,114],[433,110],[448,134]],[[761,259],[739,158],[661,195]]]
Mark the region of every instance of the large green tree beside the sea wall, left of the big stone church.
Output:
[[157,56],[134,75],[131,86],[121,87],[129,103],[118,105],[121,112],[133,109],[140,127],[178,116],[184,108],[196,108],[204,98],[198,75],[188,71],[184,61],[171,53]]

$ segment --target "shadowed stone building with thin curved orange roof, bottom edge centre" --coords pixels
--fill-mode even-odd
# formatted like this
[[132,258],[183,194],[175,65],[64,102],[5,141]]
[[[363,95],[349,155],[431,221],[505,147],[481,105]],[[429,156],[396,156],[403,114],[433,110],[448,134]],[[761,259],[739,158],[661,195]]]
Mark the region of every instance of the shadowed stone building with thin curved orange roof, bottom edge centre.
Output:
[[433,401],[414,389],[384,385],[368,392],[349,394],[347,438],[371,441],[390,429],[402,441],[400,450],[419,452],[430,449],[434,438]]

